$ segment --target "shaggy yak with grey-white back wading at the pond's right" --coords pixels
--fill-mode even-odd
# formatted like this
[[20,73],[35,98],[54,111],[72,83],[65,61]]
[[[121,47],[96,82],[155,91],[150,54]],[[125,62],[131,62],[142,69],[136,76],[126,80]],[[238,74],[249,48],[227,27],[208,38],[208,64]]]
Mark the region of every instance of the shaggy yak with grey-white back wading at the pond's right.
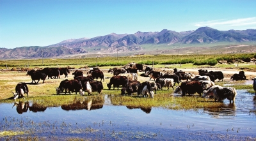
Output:
[[203,97],[212,95],[214,96],[214,101],[219,102],[227,98],[229,103],[234,103],[236,99],[236,89],[234,87],[221,87],[220,85],[213,85],[208,91],[204,91]]

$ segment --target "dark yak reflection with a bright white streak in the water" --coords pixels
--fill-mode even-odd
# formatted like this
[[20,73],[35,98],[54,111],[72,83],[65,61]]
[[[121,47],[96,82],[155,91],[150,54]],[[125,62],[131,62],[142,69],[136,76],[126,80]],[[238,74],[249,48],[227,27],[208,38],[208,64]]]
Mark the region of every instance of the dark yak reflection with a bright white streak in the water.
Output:
[[74,103],[61,105],[63,110],[96,110],[103,107],[104,99],[97,98],[97,99],[90,99],[90,100],[76,100]]

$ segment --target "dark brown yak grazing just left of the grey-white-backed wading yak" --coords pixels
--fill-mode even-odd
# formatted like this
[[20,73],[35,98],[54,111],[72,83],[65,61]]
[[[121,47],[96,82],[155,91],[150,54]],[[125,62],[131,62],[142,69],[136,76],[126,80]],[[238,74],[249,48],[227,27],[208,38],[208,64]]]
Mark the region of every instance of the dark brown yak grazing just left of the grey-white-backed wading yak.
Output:
[[182,91],[182,96],[186,94],[195,94],[198,93],[200,96],[204,91],[204,87],[202,82],[199,81],[191,81],[191,82],[182,82],[180,86],[176,87],[174,93],[179,93]]

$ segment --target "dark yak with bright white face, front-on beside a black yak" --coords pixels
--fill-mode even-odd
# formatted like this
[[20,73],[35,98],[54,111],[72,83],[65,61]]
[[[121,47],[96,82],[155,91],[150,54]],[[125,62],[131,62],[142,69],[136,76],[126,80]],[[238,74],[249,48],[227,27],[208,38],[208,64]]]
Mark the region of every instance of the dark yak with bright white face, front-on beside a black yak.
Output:
[[92,92],[98,92],[102,94],[103,85],[102,82],[99,81],[92,81],[92,82],[84,82],[83,91],[87,91],[88,95],[92,94]]

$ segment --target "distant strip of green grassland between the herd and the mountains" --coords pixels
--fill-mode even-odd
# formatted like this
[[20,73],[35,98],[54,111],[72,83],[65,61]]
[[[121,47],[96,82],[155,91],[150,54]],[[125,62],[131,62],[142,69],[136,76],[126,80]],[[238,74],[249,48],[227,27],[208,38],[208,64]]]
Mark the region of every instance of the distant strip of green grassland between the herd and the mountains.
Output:
[[[127,63],[141,63],[146,65],[154,64],[189,64],[215,66],[218,61],[237,61],[244,63],[243,59],[255,58],[256,54],[191,54],[191,55],[138,55],[122,57],[84,57],[79,59],[22,59],[22,60],[2,60],[0,68],[24,68],[24,67],[95,67],[95,66],[122,66]],[[254,66],[250,66],[254,67]]]

